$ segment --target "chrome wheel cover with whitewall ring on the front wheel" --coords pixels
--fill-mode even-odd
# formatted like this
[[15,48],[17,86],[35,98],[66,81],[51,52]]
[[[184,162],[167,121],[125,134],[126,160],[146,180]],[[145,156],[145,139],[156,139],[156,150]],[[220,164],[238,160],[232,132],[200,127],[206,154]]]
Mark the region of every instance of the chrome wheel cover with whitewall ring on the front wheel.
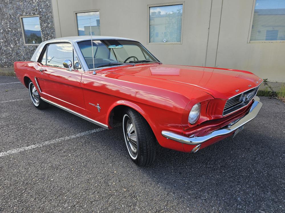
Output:
[[137,130],[127,114],[123,117],[123,131],[128,152],[133,160],[137,159]]

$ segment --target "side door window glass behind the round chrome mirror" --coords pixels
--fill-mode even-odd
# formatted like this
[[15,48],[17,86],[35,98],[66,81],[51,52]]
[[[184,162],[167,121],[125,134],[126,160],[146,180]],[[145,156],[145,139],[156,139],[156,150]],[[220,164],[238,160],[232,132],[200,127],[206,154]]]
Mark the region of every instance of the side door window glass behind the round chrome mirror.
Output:
[[64,68],[63,61],[68,59],[72,60],[73,48],[71,44],[61,43],[61,44],[50,44],[47,50],[47,66],[54,66],[59,68]]

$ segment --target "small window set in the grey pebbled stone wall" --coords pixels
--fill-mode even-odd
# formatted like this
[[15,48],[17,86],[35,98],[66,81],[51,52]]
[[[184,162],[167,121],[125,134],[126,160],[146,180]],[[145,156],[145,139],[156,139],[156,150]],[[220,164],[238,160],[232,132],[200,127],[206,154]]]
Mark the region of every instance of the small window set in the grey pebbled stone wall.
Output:
[[38,16],[21,16],[21,26],[24,43],[27,45],[38,45],[42,43],[40,31],[40,19]]

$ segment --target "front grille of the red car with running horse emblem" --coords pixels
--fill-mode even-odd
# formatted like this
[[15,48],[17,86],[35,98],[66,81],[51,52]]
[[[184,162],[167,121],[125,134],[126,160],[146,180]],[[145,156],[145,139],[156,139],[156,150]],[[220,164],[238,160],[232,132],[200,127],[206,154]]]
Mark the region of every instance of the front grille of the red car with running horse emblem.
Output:
[[230,114],[231,112],[237,111],[240,108],[243,108],[244,106],[248,105],[249,102],[255,97],[258,88],[259,86],[227,100],[223,110],[223,116]]

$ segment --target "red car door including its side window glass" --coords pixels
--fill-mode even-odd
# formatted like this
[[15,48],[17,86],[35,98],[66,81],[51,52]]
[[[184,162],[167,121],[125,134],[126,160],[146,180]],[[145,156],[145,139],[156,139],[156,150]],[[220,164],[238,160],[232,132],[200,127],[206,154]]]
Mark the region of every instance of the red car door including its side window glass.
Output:
[[[49,101],[85,115],[85,103],[81,87],[80,63],[70,43],[53,43],[46,47],[46,65],[42,79]],[[71,70],[63,66],[64,60],[72,62]],[[77,67],[74,66],[75,65]]]

